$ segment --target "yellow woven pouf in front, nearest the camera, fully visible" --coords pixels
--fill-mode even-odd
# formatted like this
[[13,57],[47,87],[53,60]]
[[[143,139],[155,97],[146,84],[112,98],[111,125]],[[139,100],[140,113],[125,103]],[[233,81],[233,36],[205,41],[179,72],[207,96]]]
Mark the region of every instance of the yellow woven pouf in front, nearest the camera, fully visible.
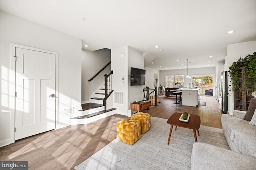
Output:
[[118,121],[116,127],[116,137],[124,143],[133,145],[141,137],[140,121],[138,120],[124,119]]

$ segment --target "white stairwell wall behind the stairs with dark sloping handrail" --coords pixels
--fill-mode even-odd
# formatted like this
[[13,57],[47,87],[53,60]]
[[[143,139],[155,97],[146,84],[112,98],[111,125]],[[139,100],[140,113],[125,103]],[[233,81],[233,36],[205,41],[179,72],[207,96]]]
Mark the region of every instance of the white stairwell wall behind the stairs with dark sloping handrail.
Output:
[[89,51],[82,49],[82,104],[88,103],[90,96],[104,83],[104,74],[109,74],[111,64],[109,64],[98,76],[90,80],[106,64],[111,61],[111,50],[100,49]]

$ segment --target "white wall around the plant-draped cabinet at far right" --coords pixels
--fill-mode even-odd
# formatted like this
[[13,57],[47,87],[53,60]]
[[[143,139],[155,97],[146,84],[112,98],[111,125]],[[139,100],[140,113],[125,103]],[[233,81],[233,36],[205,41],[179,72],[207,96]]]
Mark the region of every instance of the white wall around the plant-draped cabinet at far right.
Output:
[[[256,41],[249,41],[245,43],[237,43],[228,45],[227,66],[230,67],[233,62],[236,62],[240,57],[244,58],[246,55],[253,55],[256,52]],[[228,69],[229,70],[229,69]],[[229,75],[229,72],[228,72]],[[230,76],[228,76],[228,85],[230,83]],[[228,96],[228,112],[233,115],[234,110],[234,95]]]

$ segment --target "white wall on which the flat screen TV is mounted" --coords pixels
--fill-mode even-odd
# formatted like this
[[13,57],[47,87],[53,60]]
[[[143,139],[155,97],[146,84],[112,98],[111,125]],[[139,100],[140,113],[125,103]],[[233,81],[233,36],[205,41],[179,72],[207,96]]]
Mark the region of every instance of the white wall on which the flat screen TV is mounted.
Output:
[[[144,69],[144,58],[142,53],[128,47],[128,109],[130,109],[130,103],[135,100],[143,99],[143,88],[146,86],[130,86],[130,77],[131,77],[131,67]],[[146,72],[146,77],[150,76]],[[145,82],[146,84],[146,82]]]

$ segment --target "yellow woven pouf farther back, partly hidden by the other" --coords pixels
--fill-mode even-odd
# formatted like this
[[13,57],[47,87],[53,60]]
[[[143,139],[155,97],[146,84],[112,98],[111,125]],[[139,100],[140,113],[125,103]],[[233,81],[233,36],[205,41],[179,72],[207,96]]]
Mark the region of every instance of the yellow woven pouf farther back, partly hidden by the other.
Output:
[[150,129],[150,114],[138,112],[132,115],[131,119],[140,121],[141,133],[146,133]]

